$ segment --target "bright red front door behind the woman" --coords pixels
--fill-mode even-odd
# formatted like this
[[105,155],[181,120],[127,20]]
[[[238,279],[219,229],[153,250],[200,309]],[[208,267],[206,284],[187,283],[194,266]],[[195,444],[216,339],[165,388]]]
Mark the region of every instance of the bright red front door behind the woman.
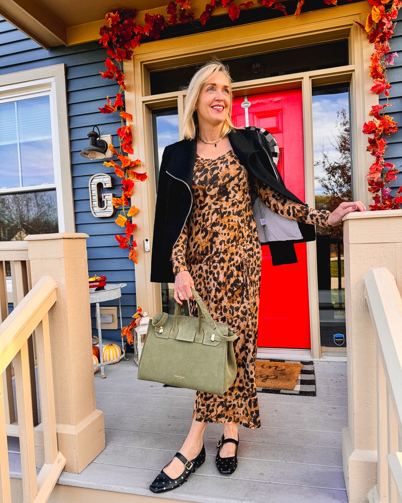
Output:
[[[278,170],[286,187],[304,201],[302,90],[235,98],[234,125],[245,127],[247,116],[249,126],[263,127],[275,137],[279,144]],[[311,346],[306,244],[298,243],[295,248],[297,264],[272,266],[269,246],[262,247],[259,347]]]

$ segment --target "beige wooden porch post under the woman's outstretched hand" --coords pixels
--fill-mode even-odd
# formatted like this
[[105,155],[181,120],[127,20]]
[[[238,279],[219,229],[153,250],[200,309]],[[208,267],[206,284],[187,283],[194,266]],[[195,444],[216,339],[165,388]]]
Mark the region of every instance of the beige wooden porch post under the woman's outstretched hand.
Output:
[[[377,483],[376,343],[363,277],[386,267],[402,285],[402,210],[352,213],[345,218],[345,301],[349,426],[342,431],[349,503],[368,501]],[[386,461],[385,461],[386,462]]]

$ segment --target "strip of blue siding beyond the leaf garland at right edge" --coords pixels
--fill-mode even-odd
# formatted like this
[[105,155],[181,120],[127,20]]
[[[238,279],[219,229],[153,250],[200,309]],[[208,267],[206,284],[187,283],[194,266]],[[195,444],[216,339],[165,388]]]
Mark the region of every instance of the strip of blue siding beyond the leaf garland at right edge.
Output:
[[[390,40],[391,52],[396,52],[398,57],[393,60],[393,66],[388,66],[387,77],[392,88],[389,90],[388,114],[399,123],[397,133],[388,138],[388,148],[385,151],[387,161],[395,164],[396,169],[402,172],[402,12],[399,12],[395,35]],[[380,104],[385,105],[386,99],[381,99]],[[397,181],[392,182],[392,192],[402,185],[402,173],[397,175]]]

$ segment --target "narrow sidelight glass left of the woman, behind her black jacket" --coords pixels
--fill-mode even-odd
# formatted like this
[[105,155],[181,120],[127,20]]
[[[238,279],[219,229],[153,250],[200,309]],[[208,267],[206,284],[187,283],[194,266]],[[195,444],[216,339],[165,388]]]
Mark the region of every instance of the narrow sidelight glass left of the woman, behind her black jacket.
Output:
[[[179,141],[179,116],[177,108],[155,110],[152,112],[152,132],[154,143],[155,181],[158,187],[159,169],[166,145]],[[174,313],[175,301],[173,283],[161,283],[162,310]]]

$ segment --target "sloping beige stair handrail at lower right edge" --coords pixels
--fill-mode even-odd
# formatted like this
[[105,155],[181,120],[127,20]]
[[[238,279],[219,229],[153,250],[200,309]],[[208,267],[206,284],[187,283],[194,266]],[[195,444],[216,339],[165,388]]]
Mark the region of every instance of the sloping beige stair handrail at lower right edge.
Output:
[[399,452],[402,437],[402,299],[394,277],[385,268],[371,269],[364,282],[377,347],[378,478],[375,499],[396,503],[402,499],[402,453]]

